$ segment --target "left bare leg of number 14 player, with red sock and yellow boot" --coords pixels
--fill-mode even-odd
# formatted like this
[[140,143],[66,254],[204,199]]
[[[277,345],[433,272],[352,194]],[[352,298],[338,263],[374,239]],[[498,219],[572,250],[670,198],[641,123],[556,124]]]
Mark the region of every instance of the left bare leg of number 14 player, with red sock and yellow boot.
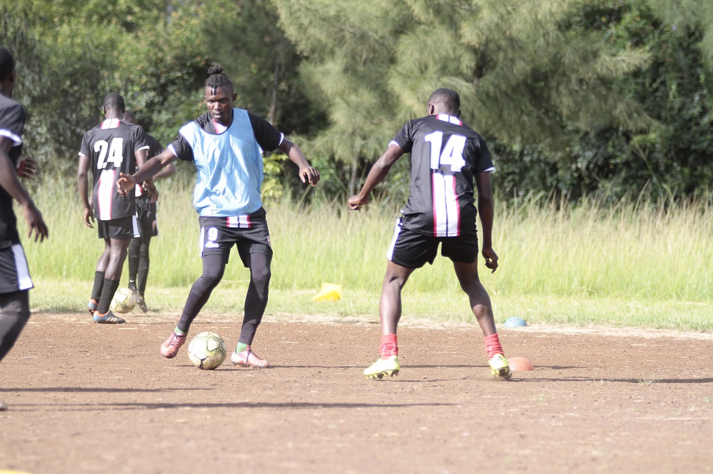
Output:
[[386,275],[381,285],[379,300],[379,319],[381,321],[381,357],[364,370],[367,379],[381,379],[384,375],[399,374],[399,345],[396,342],[396,330],[401,320],[401,289],[406,285],[414,268],[405,268],[389,261],[386,263]]

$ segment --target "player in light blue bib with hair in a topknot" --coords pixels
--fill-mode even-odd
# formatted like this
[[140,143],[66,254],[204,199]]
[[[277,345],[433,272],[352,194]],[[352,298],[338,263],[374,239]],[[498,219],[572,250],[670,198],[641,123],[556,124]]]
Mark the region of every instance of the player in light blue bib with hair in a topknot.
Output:
[[178,325],[161,344],[161,354],[169,359],[178,354],[191,322],[220,283],[230,249],[237,246],[243,265],[250,268],[250,285],[240,339],[231,361],[242,367],[264,368],[270,364],[251,348],[267,306],[272,263],[270,232],[260,199],[262,152],[281,149],[299,167],[303,183],[316,185],[319,172],[270,122],[232,106],[237,94],[222,70],[220,65],[208,70],[208,112],[181,127],[168,149],[148,160],[135,174],[122,174],[117,184],[126,194],[133,191],[136,182],[152,177],[176,159],[195,164],[198,182],[193,205],[199,216],[203,274],[193,283]]

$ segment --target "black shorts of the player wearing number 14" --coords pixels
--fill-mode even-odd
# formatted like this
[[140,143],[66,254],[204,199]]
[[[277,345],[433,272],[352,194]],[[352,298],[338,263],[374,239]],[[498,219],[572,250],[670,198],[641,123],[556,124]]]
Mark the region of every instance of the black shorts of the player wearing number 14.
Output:
[[476,226],[457,237],[430,237],[401,227],[401,218],[396,220],[394,238],[386,257],[402,267],[421,268],[426,263],[434,263],[439,243],[441,255],[453,262],[473,263],[478,257]]

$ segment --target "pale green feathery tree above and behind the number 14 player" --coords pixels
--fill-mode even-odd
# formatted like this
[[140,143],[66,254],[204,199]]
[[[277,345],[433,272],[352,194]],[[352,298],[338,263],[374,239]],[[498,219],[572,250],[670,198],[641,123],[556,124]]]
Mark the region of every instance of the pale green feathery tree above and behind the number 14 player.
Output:
[[378,157],[405,120],[424,115],[438,87],[458,90],[476,129],[505,148],[544,149],[555,166],[568,160],[579,133],[655,125],[615,88],[650,54],[607,43],[604,31],[583,24],[607,2],[275,3],[307,56],[302,73],[319,87],[312,97],[329,111],[314,149],[352,163],[350,191],[358,167]]

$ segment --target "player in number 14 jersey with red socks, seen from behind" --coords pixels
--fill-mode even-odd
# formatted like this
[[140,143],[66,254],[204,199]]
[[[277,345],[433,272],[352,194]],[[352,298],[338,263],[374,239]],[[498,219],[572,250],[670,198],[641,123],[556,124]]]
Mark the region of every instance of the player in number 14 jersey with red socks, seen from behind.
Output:
[[[431,94],[429,115],[411,120],[401,129],[371,168],[359,194],[349,198],[349,209],[359,210],[396,160],[404,153],[411,153],[411,194],[403,216],[396,221],[381,288],[381,358],[364,370],[369,379],[399,373],[396,327],[401,319],[401,288],[416,268],[433,263],[438,246],[441,255],[453,261],[461,288],[468,295],[473,315],[485,336],[492,374],[510,378],[491,300],[478,278],[478,211],[485,265],[493,272],[498,268],[492,243],[493,162],[483,137],[460,120],[460,107],[461,99],[454,90],[438,89]],[[474,206],[473,182],[478,190],[478,210]]]

